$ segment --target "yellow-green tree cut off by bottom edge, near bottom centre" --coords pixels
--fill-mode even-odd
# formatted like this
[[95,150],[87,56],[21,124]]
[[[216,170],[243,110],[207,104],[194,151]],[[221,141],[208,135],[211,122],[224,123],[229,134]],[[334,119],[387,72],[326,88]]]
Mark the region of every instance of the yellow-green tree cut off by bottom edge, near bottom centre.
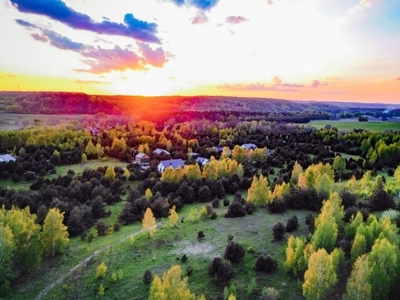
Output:
[[200,300],[189,289],[188,278],[181,278],[181,267],[172,266],[162,277],[155,276],[150,286],[149,300]]

